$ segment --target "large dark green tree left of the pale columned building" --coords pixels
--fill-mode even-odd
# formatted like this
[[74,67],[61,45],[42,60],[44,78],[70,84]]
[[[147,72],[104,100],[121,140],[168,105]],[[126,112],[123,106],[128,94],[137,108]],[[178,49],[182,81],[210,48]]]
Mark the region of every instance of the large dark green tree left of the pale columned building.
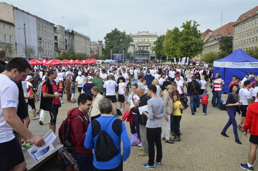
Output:
[[127,49],[132,45],[133,38],[127,35],[125,31],[121,32],[117,28],[111,30],[104,37],[105,47],[102,48],[102,54],[105,59],[110,59],[110,50],[112,53],[121,54],[124,50],[124,54],[127,53]]

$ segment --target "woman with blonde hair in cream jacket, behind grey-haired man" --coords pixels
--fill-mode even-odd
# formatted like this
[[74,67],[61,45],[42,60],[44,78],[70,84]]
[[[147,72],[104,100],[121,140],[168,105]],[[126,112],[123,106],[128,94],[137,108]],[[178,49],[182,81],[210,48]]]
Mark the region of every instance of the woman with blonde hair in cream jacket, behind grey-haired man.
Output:
[[99,93],[97,86],[93,86],[91,88],[91,93],[93,94],[93,97],[92,97],[93,100],[92,100],[92,108],[89,111],[90,121],[100,117],[98,103],[101,99],[103,99],[103,96]]

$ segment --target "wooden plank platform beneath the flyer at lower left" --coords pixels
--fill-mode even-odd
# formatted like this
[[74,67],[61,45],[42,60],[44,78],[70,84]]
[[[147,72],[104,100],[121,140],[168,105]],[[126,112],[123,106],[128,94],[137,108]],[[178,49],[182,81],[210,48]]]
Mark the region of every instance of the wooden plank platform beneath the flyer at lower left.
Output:
[[[46,122],[45,122],[46,123]],[[58,128],[60,127],[62,122],[58,122],[56,123],[56,136],[58,137]],[[44,124],[44,125],[40,125],[38,123],[38,120],[31,120],[31,123],[29,125],[29,130],[37,136],[44,136],[48,131],[49,131],[49,125],[48,123]],[[35,162],[35,160],[31,157],[31,155],[26,151],[26,150],[22,150],[23,151],[23,155],[27,164],[27,169],[29,171],[35,170],[38,167],[40,167],[42,164],[44,164],[45,162],[47,162],[49,159],[51,159],[51,157],[56,157],[57,152],[59,150],[60,147],[62,147],[63,145],[58,144],[57,147],[55,148],[55,150],[53,150],[51,153],[49,153],[47,156],[45,156],[44,158],[40,159],[38,162]]]

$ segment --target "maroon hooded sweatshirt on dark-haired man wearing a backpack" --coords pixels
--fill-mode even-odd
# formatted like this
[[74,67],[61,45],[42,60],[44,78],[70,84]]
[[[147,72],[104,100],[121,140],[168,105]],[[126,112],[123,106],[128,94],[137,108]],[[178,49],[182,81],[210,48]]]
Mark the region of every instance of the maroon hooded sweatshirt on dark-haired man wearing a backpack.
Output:
[[[83,123],[81,118],[77,117],[77,116],[81,116],[81,118],[84,120],[84,127],[83,127]],[[93,150],[92,149],[86,149],[84,147],[84,140],[85,140],[85,136],[86,136],[86,132],[89,126],[89,117],[88,114],[84,114],[82,113],[78,107],[75,107],[71,110],[68,111],[67,113],[67,117],[69,119],[72,119],[71,121],[71,129],[74,133],[74,137],[76,140],[76,144],[73,148],[73,151],[76,153],[83,153],[83,154],[88,154],[88,153],[92,153]]]

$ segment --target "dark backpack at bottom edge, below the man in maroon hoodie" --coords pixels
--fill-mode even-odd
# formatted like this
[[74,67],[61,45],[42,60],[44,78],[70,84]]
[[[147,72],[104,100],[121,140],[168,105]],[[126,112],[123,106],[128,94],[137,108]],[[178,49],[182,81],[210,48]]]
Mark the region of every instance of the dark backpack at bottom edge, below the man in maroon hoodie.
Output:
[[74,157],[70,153],[68,153],[64,147],[61,147],[58,150],[57,158],[61,160],[61,164],[60,164],[61,169],[64,169],[67,171],[77,170],[78,165],[74,160]]

